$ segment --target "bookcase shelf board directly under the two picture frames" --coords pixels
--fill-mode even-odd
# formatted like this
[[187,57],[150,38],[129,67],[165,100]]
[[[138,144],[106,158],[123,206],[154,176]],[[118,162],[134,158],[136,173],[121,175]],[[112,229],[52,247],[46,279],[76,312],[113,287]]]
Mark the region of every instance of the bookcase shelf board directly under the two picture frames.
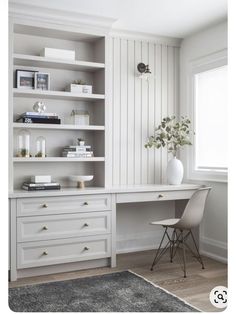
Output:
[[18,88],[13,88],[13,94],[15,97],[26,98],[46,98],[46,99],[84,100],[84,101],[96,101],[105,99],[105,95],[103,94],[78,94],[50,90],[35,90],[35,89],[24,90]]

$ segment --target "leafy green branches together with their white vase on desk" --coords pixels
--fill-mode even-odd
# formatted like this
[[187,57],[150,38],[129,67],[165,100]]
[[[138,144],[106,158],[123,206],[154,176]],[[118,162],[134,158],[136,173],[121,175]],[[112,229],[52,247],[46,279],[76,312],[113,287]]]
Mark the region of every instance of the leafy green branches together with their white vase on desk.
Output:
[[181,116],[180,121],[176,117],[163,118],[161,124],[155,128],[154,135],[150,136],[146,148],[167,147],[168,153],[173,158],[167,165],[167,182],[169,184],[181,184],[184,175],[182,162],[176,158],[177,151],[185,145],[191,143],[191,121],[187,117]]

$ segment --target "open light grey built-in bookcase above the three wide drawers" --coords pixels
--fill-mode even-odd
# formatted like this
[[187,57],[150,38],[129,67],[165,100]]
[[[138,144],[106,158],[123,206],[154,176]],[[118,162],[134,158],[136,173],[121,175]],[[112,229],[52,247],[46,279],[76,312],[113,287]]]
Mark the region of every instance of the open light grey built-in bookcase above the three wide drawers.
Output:
[[[76,187],[70,175],[94,175],[90,187],[105,186],[105,51],[106,37],[48,26],[14,23],[10,42],[10,191],[19,190],[33,175],[51,175],[62,188]],[[75,60],[61,60],[40,56],[43,48],[75,50]],[[50,90],[19,89],[15,84],[16,70],[32,70],[50,74]],[[93,86],[92,94],[65,91],[76,79]],[[61,124],[20,123],[17,118],[33,111],[36,101],[43,101],[46,112],[55,112]],[[72,110],[89,112],[89,125],[72,125],[68,118]],[[32,157],[17,157],[17,134],[22,129],[30,132]],[[47,157],[35,156],[36,139],[46,139]],[[64,146],[75,145],[84,138],[91,145],[94,157],[61,157]],[[60,166],[61,163],[61,166]]]

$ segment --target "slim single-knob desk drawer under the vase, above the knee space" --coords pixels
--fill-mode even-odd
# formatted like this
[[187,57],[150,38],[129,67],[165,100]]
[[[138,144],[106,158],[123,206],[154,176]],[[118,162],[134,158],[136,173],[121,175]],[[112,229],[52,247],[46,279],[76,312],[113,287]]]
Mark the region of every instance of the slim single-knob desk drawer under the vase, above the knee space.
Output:
[[135,203],[151,201],[171,201],[189,199],[196,190],[163,191],[163,192],[134,192],[117,194],[117,203]]

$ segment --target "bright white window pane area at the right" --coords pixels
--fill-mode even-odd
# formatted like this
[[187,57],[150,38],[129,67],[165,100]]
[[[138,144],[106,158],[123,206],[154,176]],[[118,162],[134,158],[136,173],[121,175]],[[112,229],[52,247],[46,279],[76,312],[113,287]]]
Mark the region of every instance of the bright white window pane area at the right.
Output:
[[195,74],[195,167],[227,170],[227,66]]

